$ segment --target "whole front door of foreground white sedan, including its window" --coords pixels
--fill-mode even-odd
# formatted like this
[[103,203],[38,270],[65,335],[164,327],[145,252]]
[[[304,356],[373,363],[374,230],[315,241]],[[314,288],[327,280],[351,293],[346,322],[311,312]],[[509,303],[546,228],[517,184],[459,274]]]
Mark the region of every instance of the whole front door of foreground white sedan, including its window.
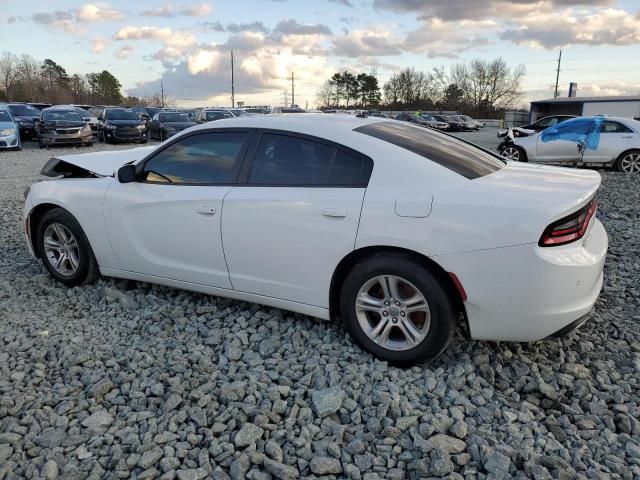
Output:
[[122,270],[231,288],[220,237],[222,202],[250,134],[181,137],[140,165],[136,182],[114,182],[105,217]]

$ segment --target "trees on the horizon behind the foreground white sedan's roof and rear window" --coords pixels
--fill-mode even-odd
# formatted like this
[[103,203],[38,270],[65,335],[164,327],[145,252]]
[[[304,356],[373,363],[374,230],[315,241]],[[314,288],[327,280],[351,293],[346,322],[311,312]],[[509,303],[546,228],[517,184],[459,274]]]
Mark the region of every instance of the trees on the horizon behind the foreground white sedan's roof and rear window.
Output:
[[449,71],[406,68],[378,85],[374,75],[338,72],[318,91],[322,109],[455,110],[479,118],[498,117],[516,107],[525,67],[502,58],[459,62]]

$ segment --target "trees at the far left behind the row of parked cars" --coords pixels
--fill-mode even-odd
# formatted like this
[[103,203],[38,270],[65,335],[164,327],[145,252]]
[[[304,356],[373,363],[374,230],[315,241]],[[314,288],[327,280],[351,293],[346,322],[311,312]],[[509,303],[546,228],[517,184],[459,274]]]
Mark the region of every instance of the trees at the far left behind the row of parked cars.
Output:
[[108,70],[70,75],[50,58],[42,62],[31,55],[0,56],[0,101],[76,105],[160,106],[159,95],[123,97],[122,84]]

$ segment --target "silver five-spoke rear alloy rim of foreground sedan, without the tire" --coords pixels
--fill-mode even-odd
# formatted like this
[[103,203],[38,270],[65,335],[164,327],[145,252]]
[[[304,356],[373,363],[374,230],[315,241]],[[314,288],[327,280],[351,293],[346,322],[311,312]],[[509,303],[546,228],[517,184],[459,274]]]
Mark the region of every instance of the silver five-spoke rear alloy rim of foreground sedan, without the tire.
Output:
[[356,317],[362,331],[388,350],[409,350],[429,333],[431,311],[411,282],[395,275],[368,280],[356,297]]

